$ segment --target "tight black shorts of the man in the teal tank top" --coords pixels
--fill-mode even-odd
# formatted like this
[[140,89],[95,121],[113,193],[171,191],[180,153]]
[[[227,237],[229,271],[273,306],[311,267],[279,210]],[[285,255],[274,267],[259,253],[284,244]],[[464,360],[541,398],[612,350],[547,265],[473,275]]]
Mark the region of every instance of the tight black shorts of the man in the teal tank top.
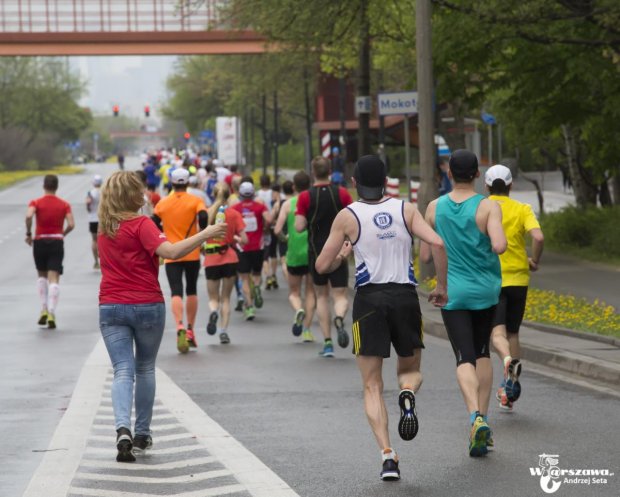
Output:
[[493,329],[495,307],[476,311],[441,310],[441,317],[452,344],[457,366],[465,363],[475,366],[476,359],[491,357],[489,339]]

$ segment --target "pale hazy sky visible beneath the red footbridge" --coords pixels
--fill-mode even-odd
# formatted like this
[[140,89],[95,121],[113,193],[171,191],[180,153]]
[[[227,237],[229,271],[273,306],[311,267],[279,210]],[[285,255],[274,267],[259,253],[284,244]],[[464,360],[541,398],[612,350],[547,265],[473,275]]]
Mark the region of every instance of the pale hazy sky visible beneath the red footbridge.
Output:
[[112,114],[116,104],[121,114],[135,117],[149,105],[151,117],[157,119],[175,60],[174,56],[98,56],[71,57],[70,63],[87,81],[88,93],[80,104],[94,114]]

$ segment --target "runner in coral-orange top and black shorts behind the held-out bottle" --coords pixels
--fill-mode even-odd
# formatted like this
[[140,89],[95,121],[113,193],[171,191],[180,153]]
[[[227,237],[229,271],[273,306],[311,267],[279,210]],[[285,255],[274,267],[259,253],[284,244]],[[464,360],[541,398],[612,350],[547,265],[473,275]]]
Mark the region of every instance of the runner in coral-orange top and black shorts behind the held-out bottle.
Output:
[[[237,244],[245,245],[248,237],[245,234],[245,225],[241,214],[228,208],[230,190],[226,183],[215,186],[215,203],[209,208],[209,224],[217,221],[218,213],[225,216],[228,225],[226,236],[221,239],[210,239],[204,248],[205,276],[207,278],[207,293],[209,294],[209,323],[207,333],[215,335],[217,332],[220,343],[230,343],[228,323],[230,320],[230,292],[235,285],[239,257],[235,250]],[[218,329],[218,310],[221,316],[221,325]]]

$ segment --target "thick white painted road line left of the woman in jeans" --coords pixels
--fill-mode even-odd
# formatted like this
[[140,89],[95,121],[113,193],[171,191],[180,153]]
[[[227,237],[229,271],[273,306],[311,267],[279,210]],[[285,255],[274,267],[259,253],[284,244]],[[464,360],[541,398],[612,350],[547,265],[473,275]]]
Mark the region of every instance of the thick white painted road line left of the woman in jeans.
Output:
[[101,402],[103,378],[110,367],[106,355],[103,340],[99,340],[82,367],[69,407],[48,447],[50,452],[43,456],[23,497],[66,497]]

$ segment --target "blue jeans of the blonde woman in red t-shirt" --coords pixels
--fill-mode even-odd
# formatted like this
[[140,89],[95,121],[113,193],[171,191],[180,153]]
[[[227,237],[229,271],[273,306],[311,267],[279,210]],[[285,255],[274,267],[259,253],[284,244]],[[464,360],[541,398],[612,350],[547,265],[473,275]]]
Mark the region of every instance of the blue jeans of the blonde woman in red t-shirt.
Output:
[[164,334],[165,321],[166,308],[163,303],[99,306],[99,328],[114,368],[112,406],[117,430],[121,427],[131,430],[135,379],[134,433],[151,433],[155,402],[155,359]]

